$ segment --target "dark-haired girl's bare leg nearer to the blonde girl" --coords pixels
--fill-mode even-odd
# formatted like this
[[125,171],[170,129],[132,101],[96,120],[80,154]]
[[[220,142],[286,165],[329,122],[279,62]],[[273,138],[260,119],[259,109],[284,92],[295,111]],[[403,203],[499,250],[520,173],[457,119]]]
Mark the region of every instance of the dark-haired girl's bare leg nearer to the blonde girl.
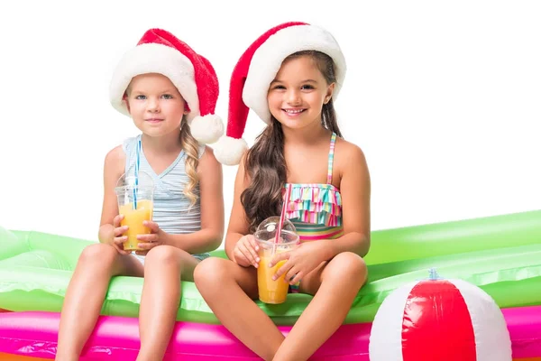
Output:
[[258,298],[257,270],[222,258],[197,265],[197,289],[222,324],[265,360],[271,360],[284,336],[253,299]]

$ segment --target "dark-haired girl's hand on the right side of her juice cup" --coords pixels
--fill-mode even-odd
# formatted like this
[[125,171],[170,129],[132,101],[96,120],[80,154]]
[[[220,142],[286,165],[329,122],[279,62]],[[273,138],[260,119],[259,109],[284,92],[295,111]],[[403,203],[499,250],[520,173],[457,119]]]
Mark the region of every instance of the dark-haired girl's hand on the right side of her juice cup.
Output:
[[319,264],[327,261],[329,244],[324,240],[313,241],[298,245],[298,247],[290,252],[283,252],[275,255],[270,267],[278,264],[282,260],[288,260],[272,277],[273,280],[278,280],[282,274],[285,274],[284,280],[289,284],[299,282],[308,273],[314,271]]

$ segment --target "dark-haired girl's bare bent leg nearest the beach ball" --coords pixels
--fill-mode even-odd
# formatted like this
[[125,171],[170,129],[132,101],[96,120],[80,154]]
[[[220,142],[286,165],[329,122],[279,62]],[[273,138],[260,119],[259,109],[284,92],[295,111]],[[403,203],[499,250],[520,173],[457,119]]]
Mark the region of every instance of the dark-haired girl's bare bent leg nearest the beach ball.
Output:
[[[353,300],[366,281],[366,264],[359,255],[336,255],[308,273],[300,292],[315,294],[281,344],[274,360],[307,360],[344,322]],[[322,327],[325,325],[325,327]]]

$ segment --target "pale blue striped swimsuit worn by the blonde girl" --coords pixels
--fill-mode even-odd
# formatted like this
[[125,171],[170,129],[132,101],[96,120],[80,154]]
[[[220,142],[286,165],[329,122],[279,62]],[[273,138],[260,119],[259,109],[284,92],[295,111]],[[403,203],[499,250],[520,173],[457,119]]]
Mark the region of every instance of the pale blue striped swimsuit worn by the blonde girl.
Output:
[[[123,143],[123,150],[126,154],[124,171],[126,174],[133,174],[135,161],[137,159],[137,146],[141,139],[141,134],[133,138],[128,138]],[[199,159],[205,152],[205,146],[199,145]],[[170,166],[156,174],[151,165],[146,160],[144,152],[140,153],[139,171],[149,174],[154,181],[154,200],[152,220],[160,226],[161,230],[171,235],[189,234],[201,229],[201,208],[199,199],[191,207],[190,201],[182,193],[184,184],[188,183],[188,175],[185,169],[186,153],[181,151],[177,159]],[[194,194],[199,195],[199,186],[194,189]],[[189,209],[188,209],[189,208]],[[135,255],[144,263],[143,255]],[[209,254],[193,255],[199,260],[203,260]]]

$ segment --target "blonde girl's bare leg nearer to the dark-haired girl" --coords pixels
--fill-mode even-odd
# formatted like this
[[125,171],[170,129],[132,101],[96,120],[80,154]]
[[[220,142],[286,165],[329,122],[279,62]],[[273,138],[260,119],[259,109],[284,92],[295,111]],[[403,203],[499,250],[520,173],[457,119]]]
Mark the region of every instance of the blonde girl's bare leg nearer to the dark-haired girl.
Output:
[[180,302],[180,280],[193,281],[198,260],[170,245],[151,249],[144,261],[139,310],[141,350],[138,361],[160,360],[170,342]]

